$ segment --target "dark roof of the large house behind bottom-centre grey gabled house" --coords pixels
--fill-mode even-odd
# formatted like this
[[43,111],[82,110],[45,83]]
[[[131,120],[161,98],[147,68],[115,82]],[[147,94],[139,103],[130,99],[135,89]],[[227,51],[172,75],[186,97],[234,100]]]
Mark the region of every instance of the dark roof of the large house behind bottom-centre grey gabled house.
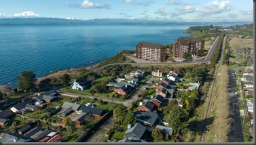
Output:
[[146,121],[147,123],[151,123],[151,125],[156,123],[156,119],[158,119],[158,114],[151,112],[149,110],[137,111],[137,112],[134,112],[134,115],[137,119]]

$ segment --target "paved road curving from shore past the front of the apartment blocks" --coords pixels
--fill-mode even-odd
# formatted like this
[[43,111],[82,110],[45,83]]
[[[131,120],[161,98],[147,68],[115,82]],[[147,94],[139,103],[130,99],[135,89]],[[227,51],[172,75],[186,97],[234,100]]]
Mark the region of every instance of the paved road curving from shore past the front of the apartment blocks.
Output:
[[113,65],[125,65],[125,64],[136,64],[136,65],[166,65],[166,64],[195,64],[195,63],[205,63],[205,62],[210,62],[212,56],[213,56],[213,52],[215,50],[215,47],[217,45],[217,42],[219,41],[219,37],[217,37],[217,39],[215,39],[210,51],[208,51],[208,54],[206,56],[206,58],[204,60],[200,60],[198,62],[143,62],[143,63],[115,63],[115,64],[107,64],[105,66],[101,66],[100,68],[96,68],[94,70],[92,70],[93,73],[97,73],[100,70],[103,70],[105,67],[107,66],[113,66]]

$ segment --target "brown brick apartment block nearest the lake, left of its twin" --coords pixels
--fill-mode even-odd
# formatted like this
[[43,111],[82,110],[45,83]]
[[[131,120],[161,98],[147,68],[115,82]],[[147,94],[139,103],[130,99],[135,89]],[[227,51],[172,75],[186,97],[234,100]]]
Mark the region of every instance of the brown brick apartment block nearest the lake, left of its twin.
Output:
[[166,59],[164,45],[156,43],[139,43],[136,45],[136,58],[163,62]]

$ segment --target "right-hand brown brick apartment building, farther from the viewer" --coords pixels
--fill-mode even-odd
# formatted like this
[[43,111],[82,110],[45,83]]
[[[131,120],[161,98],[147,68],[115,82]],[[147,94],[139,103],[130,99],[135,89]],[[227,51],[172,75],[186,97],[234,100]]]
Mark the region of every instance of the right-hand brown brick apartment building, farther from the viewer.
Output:
[[179,37],[173,48],[173,58],[183,58],[187,51],[196,56],[198,49],[204,49],[204,40],[199,38]]

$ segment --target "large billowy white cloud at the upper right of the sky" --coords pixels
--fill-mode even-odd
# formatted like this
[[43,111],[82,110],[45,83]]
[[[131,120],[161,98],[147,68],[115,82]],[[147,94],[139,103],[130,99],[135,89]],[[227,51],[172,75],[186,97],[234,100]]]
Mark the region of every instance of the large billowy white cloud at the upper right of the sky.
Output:
[[202,14],[220,14],[222,12],[229,12],[232,9],[230,1],[213,1],[208,3],[204,8],[196,8],[196,12]]

